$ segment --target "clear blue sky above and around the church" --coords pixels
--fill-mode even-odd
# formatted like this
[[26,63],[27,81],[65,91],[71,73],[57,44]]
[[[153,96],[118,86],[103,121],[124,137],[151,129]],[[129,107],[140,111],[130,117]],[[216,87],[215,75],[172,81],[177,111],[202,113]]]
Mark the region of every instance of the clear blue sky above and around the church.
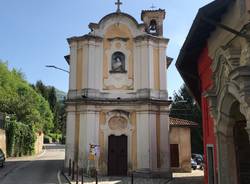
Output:
[[[168,91],[183,81],[175,61],[198,9],[212,0],[122,0],[121,10],[139,22],[141,10],[152,3],[166,10],[164,36],[170,39],[167,54],[174,58],[168,70]],[[45,68],[47,64],[68,69],[64,55],[69,53],[66,38],[89,32],[88,24],[114,12],[115,0],[1,0],[0,59],[11,68],[21,69],[30,83],[68,90],[68,74]]]

